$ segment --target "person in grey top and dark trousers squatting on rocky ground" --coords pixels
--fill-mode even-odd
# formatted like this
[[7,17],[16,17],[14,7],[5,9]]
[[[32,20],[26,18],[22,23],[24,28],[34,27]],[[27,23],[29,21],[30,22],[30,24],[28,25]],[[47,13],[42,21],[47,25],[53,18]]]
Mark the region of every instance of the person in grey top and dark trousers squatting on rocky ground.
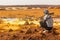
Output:
[[48,10],[44,10],[44,16],[41,17],[40,25],[45,29],[43,33],[51,32],[53,28],[53,18],[51,17]]

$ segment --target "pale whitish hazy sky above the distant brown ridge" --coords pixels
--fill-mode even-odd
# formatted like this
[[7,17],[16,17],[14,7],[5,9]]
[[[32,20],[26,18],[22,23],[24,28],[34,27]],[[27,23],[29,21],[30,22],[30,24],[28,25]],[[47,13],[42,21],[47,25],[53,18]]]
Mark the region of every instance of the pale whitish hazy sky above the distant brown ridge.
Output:
[[0,0],[0,5],[60,5],[60,0]]

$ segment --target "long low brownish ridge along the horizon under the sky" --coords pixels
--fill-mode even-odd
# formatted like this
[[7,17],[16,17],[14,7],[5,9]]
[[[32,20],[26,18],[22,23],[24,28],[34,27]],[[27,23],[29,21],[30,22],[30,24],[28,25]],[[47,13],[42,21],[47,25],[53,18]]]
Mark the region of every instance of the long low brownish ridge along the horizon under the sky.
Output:
[[0,7],[41,7],[41,8],[59,7],[60,8],[60,5],[0,5]]

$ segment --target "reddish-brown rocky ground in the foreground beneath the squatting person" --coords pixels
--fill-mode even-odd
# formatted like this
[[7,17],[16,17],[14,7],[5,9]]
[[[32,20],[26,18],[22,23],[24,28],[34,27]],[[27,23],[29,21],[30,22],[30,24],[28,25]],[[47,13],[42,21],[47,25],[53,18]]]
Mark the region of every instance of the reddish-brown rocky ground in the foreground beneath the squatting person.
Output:
[[60,40],[59,33],[41,33],[41,28],[30,28],[26,32],[9,30],[0,32],[0,40]]

